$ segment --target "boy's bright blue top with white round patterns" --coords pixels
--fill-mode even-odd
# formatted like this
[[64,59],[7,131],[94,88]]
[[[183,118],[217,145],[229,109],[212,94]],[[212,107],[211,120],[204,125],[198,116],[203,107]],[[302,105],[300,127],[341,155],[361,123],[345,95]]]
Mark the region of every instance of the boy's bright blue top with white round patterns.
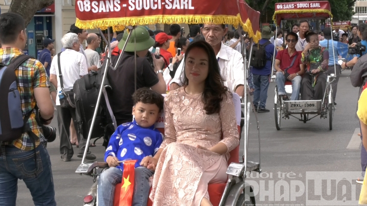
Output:
[[[119,125],[111,136],[104,160],[106,161],[108,156],[117,157],[118,161],[138,160],[135,164],[135,167],[138,167],[144,157],[153,157],[162,141],[163,134],[154,125],[143,128],[135,120],[132,123],[124,123]],[[116,167],[123,171],[123,163]]]

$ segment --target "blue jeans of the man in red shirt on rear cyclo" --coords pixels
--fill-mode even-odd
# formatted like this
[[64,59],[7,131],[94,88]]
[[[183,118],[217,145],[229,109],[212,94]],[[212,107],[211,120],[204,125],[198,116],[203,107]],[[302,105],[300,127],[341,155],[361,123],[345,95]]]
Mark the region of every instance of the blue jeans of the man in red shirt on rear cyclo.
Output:
[[[275,76],[275,82],[276,85],[278,86],[278,95],[286,95],[285,92],[285,77],[283,75],[282,72],[276,72],[276,76]],[[296,101],[298,100],[299,97],[299,89],[301,88],[301,81],[302,78],[300,76],[296,76],[293,80],[292,80],[292,96],[291,96],[291,101]]]

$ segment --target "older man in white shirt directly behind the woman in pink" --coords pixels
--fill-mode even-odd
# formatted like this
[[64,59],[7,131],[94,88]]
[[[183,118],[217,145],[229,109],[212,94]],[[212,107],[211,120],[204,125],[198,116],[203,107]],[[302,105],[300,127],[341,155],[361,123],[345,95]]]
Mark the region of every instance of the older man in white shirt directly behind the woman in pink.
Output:
[[[229,88],[230,92],[237,93],[240,97],[244,95],[244,68],[242,55],[222,43],[224,35],[228,28],[224,24],[204,24],[201,32],[214,49],[217,55],[220,72],[225,80],[224,85]],[[170,90],[175,90],[184,82],[184,61],[177,68],[175,77],[171,81]]]

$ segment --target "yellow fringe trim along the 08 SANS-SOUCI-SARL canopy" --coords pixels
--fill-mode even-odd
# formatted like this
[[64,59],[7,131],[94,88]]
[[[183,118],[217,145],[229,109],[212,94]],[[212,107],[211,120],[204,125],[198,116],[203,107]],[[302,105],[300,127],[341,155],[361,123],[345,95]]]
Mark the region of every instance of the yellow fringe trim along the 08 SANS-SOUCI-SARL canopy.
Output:
[[235,28],[240,25],[242,29],[249,34],[249,37],[253,41],[258,42],[261,39],[261,34],[259,31],[252,31],[252,23],[249,19],[244,23],[241,20],[241,16],[226,16],[226,15],[156,15],[156,16],[145,16],[145,17],[125,17],[125,18],[106,18],[91,21],[81,21],[76,18],[75,25],[83,29],[107,29],[112,26],[114,31],[121,31],[125,28],[125,25],[146,25],[155,23],[187,23],[187,24],[199,24],[212,22],[214,24],[232,24]]

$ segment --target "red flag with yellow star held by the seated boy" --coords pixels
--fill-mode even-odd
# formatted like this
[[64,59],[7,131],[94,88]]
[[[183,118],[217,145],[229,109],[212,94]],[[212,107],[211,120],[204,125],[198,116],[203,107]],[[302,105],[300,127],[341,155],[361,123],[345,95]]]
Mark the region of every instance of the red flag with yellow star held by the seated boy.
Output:
[[128,160],[124,162],[119,206],[131,206],[134,192],[134,173],[136,162],[137,160]]

